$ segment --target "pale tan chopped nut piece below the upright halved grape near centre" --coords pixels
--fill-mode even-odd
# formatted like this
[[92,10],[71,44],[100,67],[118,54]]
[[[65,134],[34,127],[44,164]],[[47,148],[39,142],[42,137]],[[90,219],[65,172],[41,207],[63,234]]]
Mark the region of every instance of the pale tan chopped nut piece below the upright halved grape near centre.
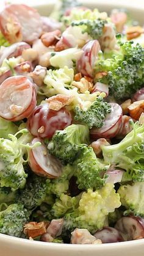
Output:
[[82,77],[82,79],[79,82],[73,81],[72,85],[78,88],[81,91],[81,93],[85,93],[85,91],[92,91],[93,88],[93,84],[88,82],[88,80],[84,77]]

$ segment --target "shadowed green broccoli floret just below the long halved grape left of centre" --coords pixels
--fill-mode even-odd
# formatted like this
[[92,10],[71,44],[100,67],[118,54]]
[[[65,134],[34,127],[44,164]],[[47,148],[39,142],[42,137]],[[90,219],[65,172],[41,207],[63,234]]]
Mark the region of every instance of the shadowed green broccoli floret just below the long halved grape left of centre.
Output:
[[62,193],[67,193],[69,180],[73,176],[73,173],[73,166],[63,166],[63,173],[59,178],[46,180],[46,193],[48,195],[54,194],[57,197],[60,197]]

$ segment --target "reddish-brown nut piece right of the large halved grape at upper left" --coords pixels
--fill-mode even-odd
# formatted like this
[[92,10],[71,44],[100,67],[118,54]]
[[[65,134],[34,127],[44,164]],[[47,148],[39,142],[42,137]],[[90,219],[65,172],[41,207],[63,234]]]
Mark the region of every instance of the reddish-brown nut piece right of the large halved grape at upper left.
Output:
[[41,36],[41,42],[46,46],[49,47],[51,45],[55,45],[57,41],[59,40],[59,37],[61,35],[61,32],[59,29],[56,29],[52,32],[46,32]]

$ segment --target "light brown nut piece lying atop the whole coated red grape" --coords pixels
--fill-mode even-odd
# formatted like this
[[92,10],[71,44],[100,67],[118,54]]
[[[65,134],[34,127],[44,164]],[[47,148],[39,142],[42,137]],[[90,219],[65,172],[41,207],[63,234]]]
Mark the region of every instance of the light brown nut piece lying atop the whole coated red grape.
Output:
[[54,111],[59,111],[62,107],[68,106],[72,103],[74,97],[73,96],[66,96],[58,94],[56,96],[52,96],[46,99],[46,102],[49,103],[49,109]]

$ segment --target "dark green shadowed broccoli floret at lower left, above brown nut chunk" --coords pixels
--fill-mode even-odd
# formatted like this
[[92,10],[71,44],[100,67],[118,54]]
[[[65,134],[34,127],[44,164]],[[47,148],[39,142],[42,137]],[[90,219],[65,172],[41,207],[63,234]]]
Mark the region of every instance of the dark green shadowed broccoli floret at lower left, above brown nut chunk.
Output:
[[29,179],[26,187],[20,191],[18,203],[24,205],[26,209],[34,209],[46,200],[46,179],[44,177],[33,176]]

